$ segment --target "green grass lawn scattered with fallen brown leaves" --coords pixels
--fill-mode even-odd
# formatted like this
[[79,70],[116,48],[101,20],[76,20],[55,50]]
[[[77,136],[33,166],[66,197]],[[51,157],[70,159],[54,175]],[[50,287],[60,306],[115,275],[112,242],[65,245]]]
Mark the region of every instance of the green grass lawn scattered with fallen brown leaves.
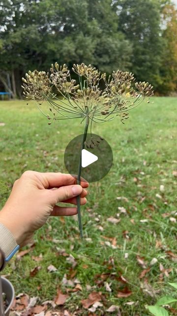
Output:
[[[24,248],[30,247],[29,253],[20,260],[14,256],[3,271],[16,294],[53,300],[58,288],[72,290],[77,278],[80,290],[68,291],[64,309],[78,316],[147,316],[146,305],[175,296],[168,282],[177,281],[177,98],[152,101],[133,110],[125,124],[116,119],[93,125],[93,132],[112,146],[114,164],[104,179],[89,186],[82,207],[86,238],[80,239],[74,218],[50,218],[36,232],[34,245]],[[79,120],[49,126],[35,105],[22,101],[1,101],[0,122],[5,123],[0,126],[2,206],[25,170],[66,172],[64,149],[83,126]],[[110,217],[120,221],[109,222]],[[57,271],[48,272],[49,265]],[[41,268],[32,273],[36,266]],[[103,304],[94,314],[81,303],[93,291],[102,292]],[[119,314],[106,312],[111,305],[119,306]],[[171,306],[177,311],[176,303]]]

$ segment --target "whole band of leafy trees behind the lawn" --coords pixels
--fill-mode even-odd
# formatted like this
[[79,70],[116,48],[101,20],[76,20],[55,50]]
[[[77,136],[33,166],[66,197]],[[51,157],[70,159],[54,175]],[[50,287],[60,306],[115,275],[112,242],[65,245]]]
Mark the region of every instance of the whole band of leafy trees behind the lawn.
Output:
[[29,69],[56,60],[121,68],[153,83],[161,94],[177,90],[177,10],[167,0],[2,0],[0,82],[13,95]]

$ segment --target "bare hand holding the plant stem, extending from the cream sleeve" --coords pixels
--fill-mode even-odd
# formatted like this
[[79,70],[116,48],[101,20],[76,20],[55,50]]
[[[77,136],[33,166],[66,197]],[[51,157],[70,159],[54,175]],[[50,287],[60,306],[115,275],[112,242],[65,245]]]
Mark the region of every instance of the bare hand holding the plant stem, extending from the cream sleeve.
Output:
[[0,223],[4,224],[20,246],[26,245],[35,230],[42,227],[49,216],[68,216],[77,214],[76,207],[62,207],[59,202],[81,205],[87,202],[89,183],[77,180],[70,174],[60,172],[25,171],[16,180],[10,197],[0,211]]

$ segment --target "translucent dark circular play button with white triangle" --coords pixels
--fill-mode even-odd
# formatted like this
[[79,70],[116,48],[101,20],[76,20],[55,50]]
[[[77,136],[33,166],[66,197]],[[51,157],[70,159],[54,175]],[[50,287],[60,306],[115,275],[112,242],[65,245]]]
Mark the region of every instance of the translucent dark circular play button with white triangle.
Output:
[[83,134],[73,138],[64,153],[64,164],[70,174],[78,174],[82,158],[81,176],[88,182],[101,180],[113,164],[113,152],[108,142],[96,134],[87,134],[84,149],[81,151]]

